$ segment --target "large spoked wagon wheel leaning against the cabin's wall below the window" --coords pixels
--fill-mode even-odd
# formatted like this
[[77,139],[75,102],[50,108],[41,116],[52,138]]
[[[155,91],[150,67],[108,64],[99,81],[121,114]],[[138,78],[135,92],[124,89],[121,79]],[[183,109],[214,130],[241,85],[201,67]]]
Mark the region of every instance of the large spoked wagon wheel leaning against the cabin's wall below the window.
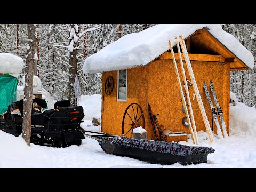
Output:
[[[133,136],[133,129],[136,127],[142,126],[145,127],[145,118],[143,114],[143,110],[137,103],[132,103],[129,105],[123,116],[122,122],[122,134],[125,137]],[[127,135],[130,132],[129,135]]]

